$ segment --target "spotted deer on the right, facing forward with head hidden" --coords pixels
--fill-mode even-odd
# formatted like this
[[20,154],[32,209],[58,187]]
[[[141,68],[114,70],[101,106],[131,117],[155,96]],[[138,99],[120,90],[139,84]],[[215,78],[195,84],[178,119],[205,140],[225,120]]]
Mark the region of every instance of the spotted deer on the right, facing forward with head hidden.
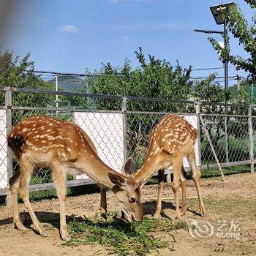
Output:
[[187,156],[189,165],[192,167],[192,179],[195,181],[197,195],[200,204],[200,214],[205,215],[206,210],[203,204],[200,189],[200,170],[197,169],[195,163],[195,140],[197,138],[197,130],[189,124],[184,118],[175,115],[167,115],[154,127],[148,138],[148,154],[146,159],[133,176],[135,181],[146,181],[158,170],[158,197],[157,208],[154,216],[159,217],[162,209],[162,188],[164,185],[165,169],[173,165],[173,183],[172,189],[175,195],[176,215],[178,220],[181,216],[178,206],[178,187],[181,181],[182,189],[182,214],[187,211],[187,181],[184,177],[182,168],[182,159]]

